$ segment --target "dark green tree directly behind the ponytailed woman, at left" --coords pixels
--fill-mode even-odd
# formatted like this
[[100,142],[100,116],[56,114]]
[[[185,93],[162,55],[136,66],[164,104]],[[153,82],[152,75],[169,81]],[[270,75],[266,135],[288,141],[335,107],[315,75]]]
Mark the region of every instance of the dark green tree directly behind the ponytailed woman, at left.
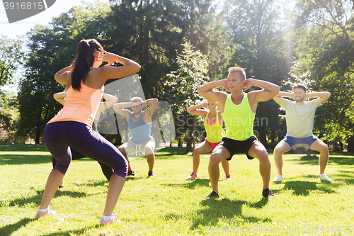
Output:
[[99,1],[96,5],[74,6],[53,18],[48,26],[35,26],[28,33],[28,61],[18,92],[18,132],[35,137],[36,144],[47,121],[62,108],[53,94],[63,91],[64,86],[55,81],[54,74],[74,60],[79,40],[96,38],[100,41],[108,27],[104,21],[108,11],[108,5]]

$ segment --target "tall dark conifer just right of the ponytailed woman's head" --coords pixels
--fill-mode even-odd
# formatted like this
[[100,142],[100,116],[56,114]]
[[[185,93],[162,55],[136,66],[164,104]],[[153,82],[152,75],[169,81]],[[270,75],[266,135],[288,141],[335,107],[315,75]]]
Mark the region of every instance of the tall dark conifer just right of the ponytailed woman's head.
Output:
[[147,98],[165,99],[166,74],[176,68],[176,49],[187,28],[184,15],[171,0],[122,0],[112,6],[108,50],[142,65],[139,75]]

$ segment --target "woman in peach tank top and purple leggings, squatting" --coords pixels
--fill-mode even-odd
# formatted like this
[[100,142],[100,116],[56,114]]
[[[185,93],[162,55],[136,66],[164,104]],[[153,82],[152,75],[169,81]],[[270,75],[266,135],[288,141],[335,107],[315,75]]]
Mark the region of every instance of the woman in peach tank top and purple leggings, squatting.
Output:
[[[100,67],[102,62],[108,64]],[[114,62],[123,66],[111,67]],[[90,39],[81,40],[74,62],[55,74],[55,80],[65,84],[67,99],[64,108],[47,123],[43,133],[45,145],[57,159],[57,164],[48,176],[35,218],[50,212],[50,201],[67,172],[72,160],[70,147],[73,147],[86,157],[114,169],[100,224],[119,222],[113,210],[127,178],[127,161],[113,144],[92,130],[92,123],[107,79],[127,77],[139,72],[139,69],[137,62],[106,52],[97,40]]]

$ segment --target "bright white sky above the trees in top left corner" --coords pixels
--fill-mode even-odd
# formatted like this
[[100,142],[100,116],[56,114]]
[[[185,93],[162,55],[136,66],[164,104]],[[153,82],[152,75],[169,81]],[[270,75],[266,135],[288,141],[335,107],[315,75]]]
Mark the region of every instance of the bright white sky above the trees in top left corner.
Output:
[[[94,1],[96,0],[86,0],[86,2]],[[109,2],[109,0],[101,1],[104,3]],[[79,6],[81,3],[81,0],[56,0],[55,4],[49,9],[30,18],[10,24],[8,23],[4,4],[0,2],[0,35],[7,35],[9,38],[16,38],[16,35],[24,35],[33,28],[33,26],[37,24],[47,25],[52,21],[53,17],[59,16],[60,13],[67,12],[72,6]]]

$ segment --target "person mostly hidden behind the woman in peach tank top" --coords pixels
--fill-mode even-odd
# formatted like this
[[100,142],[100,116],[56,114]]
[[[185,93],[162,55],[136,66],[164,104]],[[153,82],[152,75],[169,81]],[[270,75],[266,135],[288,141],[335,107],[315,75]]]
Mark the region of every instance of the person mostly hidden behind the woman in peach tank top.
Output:
[[[53,96],[57,102],[59,102],[60,104],[62,104],[64,106],[65,98],[67,97],[67,92],[59,92],[57,94],[54,94]],[[118,101],[117,97],[110,95],[110,94],[103,94],[102,99],[105,99],[105,101],[100,102],[100,104],[98,105],[96,116],[95,116],[95,119],[93,120],[93,130],[95,130],[96,132],[98,132],[97,126],[98,126],[98,120],[100,118],[101,112],[107,110],[108,108],[113,106],[114,103],[116,103]],[[77,152],[73,148],[71,148],[70,150],[72,151],[72,161],[86,157],[84,154]],[[57,164],[57,160],[54,157],[52,157],[52,164],[53,164],[53,168]],[[103,164],[102,162],[98,162],[98,164],[100,164],[102,172],[105,175],[105,178],[107,178],[107,180],[109,182],[110,176],[112,176],[112,174],[113,174],[113,169],[108,167],[108,165]],[[60,183],[59,188],[64,188],[63,181],[62,181],[62,183]]]

